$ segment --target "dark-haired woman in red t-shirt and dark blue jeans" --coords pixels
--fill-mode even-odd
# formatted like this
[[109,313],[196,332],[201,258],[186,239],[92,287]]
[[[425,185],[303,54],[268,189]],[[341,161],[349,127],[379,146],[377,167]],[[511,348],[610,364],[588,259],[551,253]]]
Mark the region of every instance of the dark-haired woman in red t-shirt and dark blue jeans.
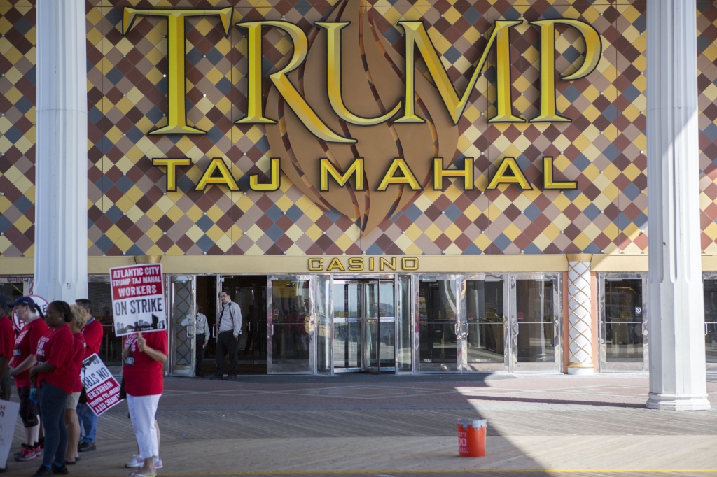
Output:
[[65,407],[77,383],[72,366],[75,338],[67,326],[69,322],[72,322],[69,304],[57,301],[47,305],[45,323],[49,329],[37,343],[37,365],[30,368],[30,382],[37,379],[42,386],[40,415],[45,436],[42,466],[32,477],[67,473]]

